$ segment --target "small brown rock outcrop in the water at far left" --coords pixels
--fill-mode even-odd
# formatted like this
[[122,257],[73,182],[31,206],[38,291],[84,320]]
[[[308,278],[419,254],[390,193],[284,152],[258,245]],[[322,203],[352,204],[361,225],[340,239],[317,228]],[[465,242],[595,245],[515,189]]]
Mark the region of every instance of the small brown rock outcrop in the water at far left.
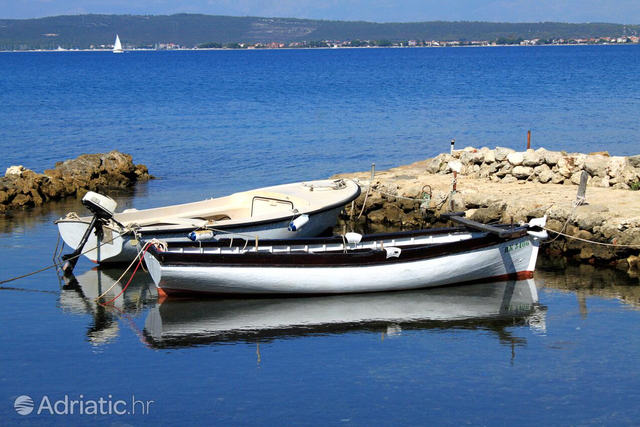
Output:
[[47,200],[87,191],[123,188],[136,181],[153,179],[147,166],[134,165],[129,154],[113,150],[106,154],[83,154],[36,173],[24,166],[7,168],[0,178],[0,212],[40,205]]

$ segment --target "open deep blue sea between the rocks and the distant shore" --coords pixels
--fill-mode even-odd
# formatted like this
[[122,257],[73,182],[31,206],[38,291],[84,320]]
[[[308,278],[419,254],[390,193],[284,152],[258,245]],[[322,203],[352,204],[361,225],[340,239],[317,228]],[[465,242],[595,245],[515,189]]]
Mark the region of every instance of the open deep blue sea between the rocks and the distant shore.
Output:
[[[637,154],[640,45],[0,54],[0,168],[119,149],[224,194],[460,146]],[[198,182],[198,184],[195,184]],[[193,192],[196,189],[196,193]]]

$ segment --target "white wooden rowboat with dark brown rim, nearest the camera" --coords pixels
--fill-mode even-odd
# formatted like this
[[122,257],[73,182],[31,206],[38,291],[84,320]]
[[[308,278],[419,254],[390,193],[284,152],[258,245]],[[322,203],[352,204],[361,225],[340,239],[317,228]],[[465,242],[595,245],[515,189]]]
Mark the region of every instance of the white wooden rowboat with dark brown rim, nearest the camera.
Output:
[[336,294],[530,278],[546,217],[518,227],[446,214],[458,227],[333,238],[147,245],[158,293]]

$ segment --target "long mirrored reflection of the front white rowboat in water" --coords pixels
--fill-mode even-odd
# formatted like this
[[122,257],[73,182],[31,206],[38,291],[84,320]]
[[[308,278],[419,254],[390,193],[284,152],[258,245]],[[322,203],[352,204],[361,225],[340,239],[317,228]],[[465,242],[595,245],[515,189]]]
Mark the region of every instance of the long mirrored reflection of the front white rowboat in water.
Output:
[[545,332],[545,312],[532,279],[305,298],[170,298],[149,312],[144,335],[156,348],[184,348],[358,331],[467,328],[494,332],[513,346],[525,342],[511,335],[513,326]]

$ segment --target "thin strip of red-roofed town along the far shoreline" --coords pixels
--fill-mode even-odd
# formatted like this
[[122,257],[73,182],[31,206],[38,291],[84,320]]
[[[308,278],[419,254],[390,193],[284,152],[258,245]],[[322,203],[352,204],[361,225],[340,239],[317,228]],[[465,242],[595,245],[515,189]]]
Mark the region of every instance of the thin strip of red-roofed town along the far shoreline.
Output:
[[[320,40],[311,42],[270,42],[270,43],[227,43],[207,42],[196,45],[156,43],[154,45],[124,44],[127,51],[173,51],[173,50],[218,50],[218,49],[328,49],[340,47],[460,47],[460,46],[540,46],[540,45],[611,45],[638,44],[639,36],[596,37],[596,38],[524,38],[499,37],[495,40]],[[89,49],[58,46],[52,49],[13,49],[13,51],[110,51],[113,44],[90,45]]]

